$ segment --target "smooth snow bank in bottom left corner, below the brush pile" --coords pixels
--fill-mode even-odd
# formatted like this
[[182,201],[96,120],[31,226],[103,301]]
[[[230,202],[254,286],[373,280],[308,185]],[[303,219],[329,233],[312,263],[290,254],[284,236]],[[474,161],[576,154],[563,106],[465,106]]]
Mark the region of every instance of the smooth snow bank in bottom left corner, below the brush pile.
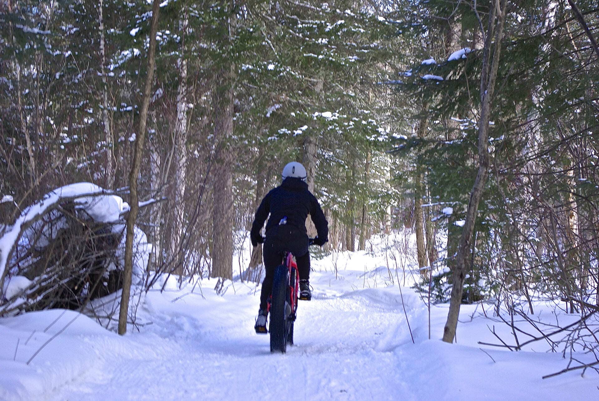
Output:
[[89,371],[102,340],[118,340],[87,316],[62,309],[0,318],[0,337],[2,400],[39,399]]

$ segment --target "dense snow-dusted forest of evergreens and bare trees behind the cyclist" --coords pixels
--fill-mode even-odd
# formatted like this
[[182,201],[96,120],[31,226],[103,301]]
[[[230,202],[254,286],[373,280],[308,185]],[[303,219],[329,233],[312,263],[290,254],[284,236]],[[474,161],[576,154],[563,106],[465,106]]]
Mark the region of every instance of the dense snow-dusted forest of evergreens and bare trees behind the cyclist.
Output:
[[594,0],[2,0],[0,26],[4,228],[133,177],[151,269],[231,279],[300,161],[325,252],[406,228],[437,301],[598,310]]

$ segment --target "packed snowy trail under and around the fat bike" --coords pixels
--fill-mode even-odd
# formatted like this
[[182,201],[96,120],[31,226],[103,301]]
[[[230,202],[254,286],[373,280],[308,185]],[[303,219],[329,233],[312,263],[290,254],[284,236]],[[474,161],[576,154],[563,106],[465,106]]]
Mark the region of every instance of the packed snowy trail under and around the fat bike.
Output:
[[385,349],[405,325],[401,304],[382,290],[325,291],[328,275],[313,276],[315,297],[299,304],[296,345],[284,355],[254,333],[258,294],[249,287],[171,304],[150,294],[142,312],[152,315],[150,333],[133,334],[133,349],[100,355],[49,399],[417,399]]

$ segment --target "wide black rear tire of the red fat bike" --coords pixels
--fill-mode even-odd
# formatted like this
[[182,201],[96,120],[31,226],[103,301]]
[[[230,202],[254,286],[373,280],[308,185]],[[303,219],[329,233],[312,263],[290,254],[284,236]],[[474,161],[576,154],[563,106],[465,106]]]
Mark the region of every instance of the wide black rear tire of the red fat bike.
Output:
[[[273,279],[273,299],[270,310],[270,352],[286,352],[289,333],[287,305],[289,270],[287,266],[277,266]],[[292,337],[293,338],[293,337]]]

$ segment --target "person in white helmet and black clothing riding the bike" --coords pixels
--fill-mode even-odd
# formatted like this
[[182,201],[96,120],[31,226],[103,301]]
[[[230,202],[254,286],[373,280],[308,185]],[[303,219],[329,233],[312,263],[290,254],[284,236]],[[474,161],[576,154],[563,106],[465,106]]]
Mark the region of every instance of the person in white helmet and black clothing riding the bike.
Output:
[[[328,241],[328,222],[320,204],[308,190],[305,168],[298,162],[288,163],[283,168],[283,182],[271,189],[264,197],[252,224],[250,239],[252,245],[264,243],[264,266],[266,276],[262,282],[260,310],[256,319],[256,333],[267,333],[268,297],[273,289],[274,270],[283,259],[283,252],[294,254],[299,273],[299,299],[310,300],[310,253],[305,220],[310,214],[316,226],[317,236],[314,245],[325,245]],[[270,213],[265,235],[260,231]]]

